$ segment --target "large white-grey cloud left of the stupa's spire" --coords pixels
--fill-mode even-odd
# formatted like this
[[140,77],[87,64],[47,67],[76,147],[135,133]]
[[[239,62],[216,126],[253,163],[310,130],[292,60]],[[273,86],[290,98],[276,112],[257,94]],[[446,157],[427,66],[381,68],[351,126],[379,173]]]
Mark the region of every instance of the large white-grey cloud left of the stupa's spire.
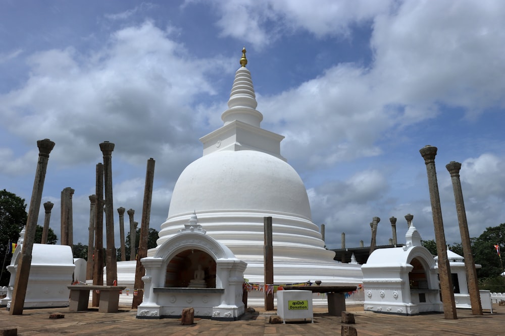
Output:
[[97,52],[48,50],[29,61],[26,84],[0,96],[4,125],[31,142],[55,141],[52,160],[67,165],[99,158],[105,140],[125,156],[171,148],[186,157],[181,149],[199,127],[190,102],[215,94],[206,73],[225,63],[198,66],[206,60],[192,59],[151,22],[116,32]]

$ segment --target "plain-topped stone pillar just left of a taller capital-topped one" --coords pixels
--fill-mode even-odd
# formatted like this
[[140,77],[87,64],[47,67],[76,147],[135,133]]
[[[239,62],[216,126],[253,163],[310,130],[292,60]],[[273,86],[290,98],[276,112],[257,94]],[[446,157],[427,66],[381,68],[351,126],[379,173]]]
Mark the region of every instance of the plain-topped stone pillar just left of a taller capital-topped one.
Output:
[[[93,285],[104,285],[104,165],[96,164],[95,248]],[[93,291],[93,307],[98,307],[100,294]]]

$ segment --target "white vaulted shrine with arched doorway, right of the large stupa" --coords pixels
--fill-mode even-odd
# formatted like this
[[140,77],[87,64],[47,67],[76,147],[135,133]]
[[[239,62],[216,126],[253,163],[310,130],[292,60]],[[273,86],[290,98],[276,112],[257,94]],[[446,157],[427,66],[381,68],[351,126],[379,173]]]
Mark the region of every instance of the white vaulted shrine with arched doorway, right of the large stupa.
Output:
[[443,312],[435,259],[411,225],[403,247],[377,249],[362,265],[365,310],[416,315]]

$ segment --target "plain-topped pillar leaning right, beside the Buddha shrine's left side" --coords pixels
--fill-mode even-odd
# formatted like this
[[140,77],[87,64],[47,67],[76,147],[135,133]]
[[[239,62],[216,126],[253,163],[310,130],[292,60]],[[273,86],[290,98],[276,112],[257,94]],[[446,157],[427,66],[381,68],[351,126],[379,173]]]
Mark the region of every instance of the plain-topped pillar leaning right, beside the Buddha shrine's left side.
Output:
[[149,234],[149,221],[151,216],[151,199],[153,198],[153,181],[155,176],[155,160],[149,158],[147,160],[147,168],[145,171],[144,185],[144,201],[142,204],[142,220],[140,221],[140,239],[138,243],[137,267],[135,268],[135,283],[134,288],[138,289],[137,296],[133,297],[132,309],[137,308],[142,303],[144,282],[142,277],[145,275],[144,265],[140,259],[147,256],[147,238]]

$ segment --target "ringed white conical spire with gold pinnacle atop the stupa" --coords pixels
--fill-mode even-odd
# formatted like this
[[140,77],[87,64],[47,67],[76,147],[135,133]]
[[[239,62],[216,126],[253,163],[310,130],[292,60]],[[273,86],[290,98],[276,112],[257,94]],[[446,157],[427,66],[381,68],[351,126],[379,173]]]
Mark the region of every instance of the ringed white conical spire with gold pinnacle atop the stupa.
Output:
[[240,58],[241,66],[235,73],[235,80],[233,81],[230,99],[228,100],[229,108],[221,114],[221,119],[224,121],[224,125],[238,120],[260,127],[263,114],[256,110],[258,102],[256,101],[254,86],[252,86],[251,74],[245,68],[247,64],[245,53],[246,50],[244,47],[242,49],[242,57]]

